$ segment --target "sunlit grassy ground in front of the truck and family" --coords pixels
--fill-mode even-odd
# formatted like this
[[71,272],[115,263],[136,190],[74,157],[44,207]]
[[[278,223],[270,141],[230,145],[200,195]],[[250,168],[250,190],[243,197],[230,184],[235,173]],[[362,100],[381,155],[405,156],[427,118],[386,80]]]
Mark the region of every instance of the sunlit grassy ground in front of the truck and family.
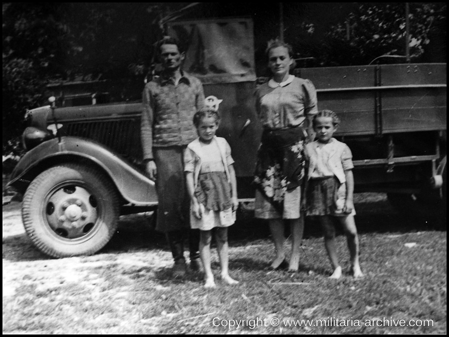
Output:
[[[331,269],[322,238],[310,228],[301,270],[288,274],[266,270],[273,256],[266,227],[248,224],[243,234],[230,232],[230,274],[240,284],[218,281],[217,289],[206,290],[201,273],[173,280],[163,238],[142,230],[135,219],[130,220],[134,227],[122,226],[110,245],[90,257],[52,260],[38,252],[17,257],[5,253],[12,244],[3,239],[3,288],[6,284],[13,292],[5,296],[3,289],[3,333],[446,334],[446,231],[422,230],[420,225],[410,229],[410,224],[408,230],[392,228],[400,217],[390,215],[382,223],[382,216],[361,213],[360,227],[374,219],[384,229],[359,230],[365,273],[360,280],[348,275],[346,240],[338,237],[345,276],[335,281],[328,279]],[[23,249],[27,246],[21,240]],[[216,251],[214,259],[218,277]],[[271,326],[270,320],[277,318],[280,324]],[[384,319],[433,322],[376,326]],[[239,321],[238,329],[229,327],[229,320]],[[333,326],[289,327],[286,320],[326,320]],[[381,321],[357,326],[356,320]]]

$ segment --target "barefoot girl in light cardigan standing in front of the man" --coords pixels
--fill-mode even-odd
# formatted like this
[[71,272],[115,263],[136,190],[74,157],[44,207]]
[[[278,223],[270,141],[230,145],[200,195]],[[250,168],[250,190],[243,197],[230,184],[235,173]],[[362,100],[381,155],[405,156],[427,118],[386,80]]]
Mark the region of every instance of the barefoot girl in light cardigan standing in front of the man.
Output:
[[221,279],[237,284],[228,272],[227,227],[235,222],[238,207],[237,183],[229,144],[215,135],[220,116],[204,108],[194,116],[198,138],[184,152],[184,171],[191,198],[191,227],[200,229],[200,257],[205,271],[205,288],[215,288],[211,268],[211,241],[215,231]]

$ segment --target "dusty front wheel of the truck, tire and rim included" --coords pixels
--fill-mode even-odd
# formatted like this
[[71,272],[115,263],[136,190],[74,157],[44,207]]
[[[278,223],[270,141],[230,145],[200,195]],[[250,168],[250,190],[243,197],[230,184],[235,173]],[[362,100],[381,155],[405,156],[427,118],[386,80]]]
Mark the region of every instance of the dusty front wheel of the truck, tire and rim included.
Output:
[[94,167],[54,166],[28,186],[22,221],[32,243],[49,256],[91,255],[115,233],[117,193],[110,180]]

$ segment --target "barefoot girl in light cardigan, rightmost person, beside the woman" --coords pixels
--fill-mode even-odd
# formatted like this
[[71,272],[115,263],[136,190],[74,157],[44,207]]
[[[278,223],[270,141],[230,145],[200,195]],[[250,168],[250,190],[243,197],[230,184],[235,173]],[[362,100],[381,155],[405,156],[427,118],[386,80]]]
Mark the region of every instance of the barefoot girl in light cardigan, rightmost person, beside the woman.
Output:
[[336,217],[346,234],[351,272],[362,277],[359,264],[359,239],[354,215],[354,177],[352,154],[349,147],[333,138],[340,119],[331,110],[319,111],[313,116],[317,140],[305,146],[307,162],[306,212],[317,216],[324,231],[324,245],[333,267],[332,279],[342,276],[335,246]]

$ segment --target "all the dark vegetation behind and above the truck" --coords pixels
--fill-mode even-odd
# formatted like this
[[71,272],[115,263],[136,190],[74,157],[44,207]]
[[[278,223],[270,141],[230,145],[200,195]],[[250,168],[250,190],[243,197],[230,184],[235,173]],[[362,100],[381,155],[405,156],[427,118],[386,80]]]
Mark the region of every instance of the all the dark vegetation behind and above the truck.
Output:
[[[446,3],[409,5],[411,61],[446,62]],[[24,112],[46,104],[50,83],[106,80],[114,100],[139,99],[167,20],[250,16],[263,76],[281,17],[295,57],[314,58],[300,66],[343,66],[405,61],[405,13],[405,2],[3,2],[3,155],[17,153]]]

